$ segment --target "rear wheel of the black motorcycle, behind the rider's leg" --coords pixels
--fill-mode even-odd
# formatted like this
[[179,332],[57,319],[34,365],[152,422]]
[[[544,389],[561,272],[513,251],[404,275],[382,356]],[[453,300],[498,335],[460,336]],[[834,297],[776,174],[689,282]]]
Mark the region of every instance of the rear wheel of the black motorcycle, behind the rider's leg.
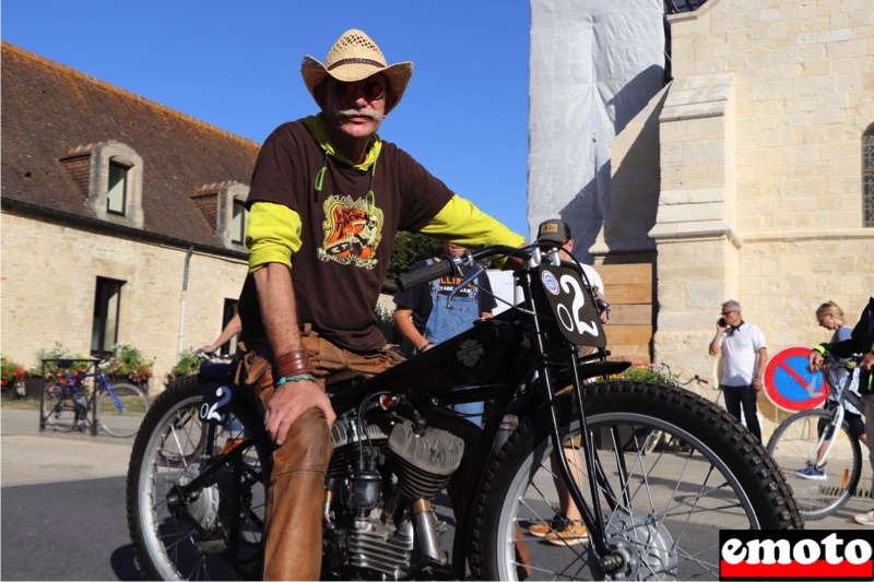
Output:
[[[236,394],[227,423],[200,420],[197,377],[170,384],[133,443],[128,530],[149,580],[259,579],[270,443],[262,420]],[[233,451],[233,454],[224,454]],[[187,500],[177,486],[212,471]],[[180,502],[181,501],[181,502]]]

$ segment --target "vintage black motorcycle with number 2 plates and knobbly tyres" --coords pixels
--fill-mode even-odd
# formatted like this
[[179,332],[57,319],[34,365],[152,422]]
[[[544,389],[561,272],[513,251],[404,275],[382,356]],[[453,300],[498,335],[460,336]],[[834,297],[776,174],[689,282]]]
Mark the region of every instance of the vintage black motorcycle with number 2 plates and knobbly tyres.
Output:
[[[465,285],[508,256],[527,264],[519,305],[375,378],[329,383],[323,579],[713,580],[719,530],[802,527],[782,474],[733,417],[678,387],[618,378],[628,364],[607,359],[597,298],[556,249],[489,247],[399,285],[461,264]],[[227,367],[170,387],[133,444],[128,521],[149,579],[260,575],[272,444]],[[449,409],[481,401],[482,431]],[[684,447],[653,450],[654,435]],[[530,534],[556,523],[557,482],[588,536]]]

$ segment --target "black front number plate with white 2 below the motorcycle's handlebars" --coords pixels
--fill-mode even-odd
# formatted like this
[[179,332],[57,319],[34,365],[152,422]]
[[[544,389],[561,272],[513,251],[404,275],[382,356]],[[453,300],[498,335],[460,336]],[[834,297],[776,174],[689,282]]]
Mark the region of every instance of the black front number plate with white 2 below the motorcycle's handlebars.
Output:
[[592,294],[571,269],[540,266],[540,281],[562,334],[575,345],[605,347],[607,340]]

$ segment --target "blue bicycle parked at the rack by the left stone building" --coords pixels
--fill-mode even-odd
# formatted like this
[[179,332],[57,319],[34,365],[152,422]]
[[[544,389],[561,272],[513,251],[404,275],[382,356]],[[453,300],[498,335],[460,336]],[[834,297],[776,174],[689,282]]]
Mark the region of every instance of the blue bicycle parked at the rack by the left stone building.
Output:
[[[76,361],[85,363],[86,368],[72,372]],[[96,433],[101,428],[113,437],[137,433],[149,411],[149,399],[131,383],[109,383],[101,368],[104,361],[57,360],[63,373],[43,389],[40,429],[69,432],[79,428]]]

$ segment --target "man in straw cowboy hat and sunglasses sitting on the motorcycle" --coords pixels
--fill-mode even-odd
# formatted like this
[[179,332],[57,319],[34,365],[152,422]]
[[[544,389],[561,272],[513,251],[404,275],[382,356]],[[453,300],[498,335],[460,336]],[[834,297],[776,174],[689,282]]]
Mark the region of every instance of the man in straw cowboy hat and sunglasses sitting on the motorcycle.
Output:
[[238,380],[264,404],[276,444],[265,580],[319,579],[335,419],[324,378],[344,369],[370,376],[398,361],[374,312],[397,233],[470,248],[523,241],[376,133],[412,73],[411,62],[388,64],[357,29],[340,36],[324,63],[304,57],[320,112],[273,131],[252,174]]

